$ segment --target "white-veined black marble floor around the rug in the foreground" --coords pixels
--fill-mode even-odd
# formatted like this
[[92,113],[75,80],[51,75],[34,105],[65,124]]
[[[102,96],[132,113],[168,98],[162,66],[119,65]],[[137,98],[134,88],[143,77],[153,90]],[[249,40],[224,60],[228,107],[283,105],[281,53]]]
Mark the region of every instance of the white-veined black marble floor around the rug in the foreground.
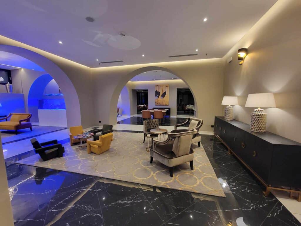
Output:
[[17,165],[8,159],[15,225],[301,225],[273,195],[263,195],[259,181],[216,138],[202,135],[202,144],[226,198]]

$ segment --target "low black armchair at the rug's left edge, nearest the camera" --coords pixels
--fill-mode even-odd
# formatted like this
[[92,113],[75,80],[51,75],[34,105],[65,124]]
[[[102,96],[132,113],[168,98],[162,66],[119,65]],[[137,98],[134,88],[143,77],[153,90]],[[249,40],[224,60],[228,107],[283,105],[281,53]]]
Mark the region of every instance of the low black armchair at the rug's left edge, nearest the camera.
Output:
[[[57,140],[51,140],[43,143],[39,143],[36,138],[30,140],[36,153],[38,153],[43,161],[53,159],[56,157],[63,157],[65,148],[62,144],[58,144]],[[52,145],[51,145],[52,144]]]

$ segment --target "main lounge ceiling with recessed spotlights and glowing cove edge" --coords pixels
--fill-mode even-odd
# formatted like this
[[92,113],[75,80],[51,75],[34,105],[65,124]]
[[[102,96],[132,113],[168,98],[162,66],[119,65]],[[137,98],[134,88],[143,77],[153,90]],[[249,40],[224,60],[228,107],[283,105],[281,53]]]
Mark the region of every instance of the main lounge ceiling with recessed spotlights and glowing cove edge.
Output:
[[1,3],[0,34],[89,67],[220,58],[275,2],[10,0]]

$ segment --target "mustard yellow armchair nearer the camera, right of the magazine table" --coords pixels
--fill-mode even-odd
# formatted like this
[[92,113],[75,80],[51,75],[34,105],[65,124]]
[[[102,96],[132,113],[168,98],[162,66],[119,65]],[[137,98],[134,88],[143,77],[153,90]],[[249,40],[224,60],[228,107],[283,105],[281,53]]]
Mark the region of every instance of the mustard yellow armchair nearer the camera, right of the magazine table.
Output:
[[99,137],[99,140],[87,140],[87,153],[91,152],[100,155],[110,149],[113,133],[107,133]]

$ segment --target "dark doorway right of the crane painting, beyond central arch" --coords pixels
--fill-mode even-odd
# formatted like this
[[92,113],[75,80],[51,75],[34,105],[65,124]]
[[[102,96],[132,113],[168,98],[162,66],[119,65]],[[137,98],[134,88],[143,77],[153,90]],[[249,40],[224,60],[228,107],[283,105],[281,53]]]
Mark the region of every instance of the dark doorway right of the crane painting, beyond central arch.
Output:
[[194,115],[194,98],[189,88],[177,88],[177,115]]

